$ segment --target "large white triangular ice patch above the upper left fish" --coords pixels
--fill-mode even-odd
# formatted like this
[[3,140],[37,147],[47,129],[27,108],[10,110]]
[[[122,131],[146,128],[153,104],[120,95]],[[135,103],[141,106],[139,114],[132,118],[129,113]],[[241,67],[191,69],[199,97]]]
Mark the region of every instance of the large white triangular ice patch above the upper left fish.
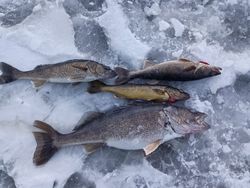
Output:
[[[37,5],[38,6],[38,5]],[[46,4],[21,24],[6,28],[2,38],[13,41],[43,55],[78,55],[74,45],[72,22],[63,7]]]

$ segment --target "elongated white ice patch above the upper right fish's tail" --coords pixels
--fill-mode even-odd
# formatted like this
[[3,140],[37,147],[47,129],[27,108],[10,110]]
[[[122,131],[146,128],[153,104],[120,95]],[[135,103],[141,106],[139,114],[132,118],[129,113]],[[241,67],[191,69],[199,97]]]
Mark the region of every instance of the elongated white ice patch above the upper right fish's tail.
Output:
[[136,61],[144,59],[150,48],[131,32],[128,27],[129,20],[121,6],[112,0],[107,0],[107,4],[107,12],[96,20],[105,28],[112,49],[125,57],[128,62],[132,60],[133,65],[138,68],[140,64],[136,64]]

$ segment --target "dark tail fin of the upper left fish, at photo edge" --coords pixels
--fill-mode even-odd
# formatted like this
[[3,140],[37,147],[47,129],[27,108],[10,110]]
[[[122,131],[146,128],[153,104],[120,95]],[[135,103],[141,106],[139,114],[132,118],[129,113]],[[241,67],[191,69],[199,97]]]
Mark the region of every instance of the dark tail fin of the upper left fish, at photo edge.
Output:
[[17,72],[20,71],[7,63],[0,62],[0,84],[15,81]]

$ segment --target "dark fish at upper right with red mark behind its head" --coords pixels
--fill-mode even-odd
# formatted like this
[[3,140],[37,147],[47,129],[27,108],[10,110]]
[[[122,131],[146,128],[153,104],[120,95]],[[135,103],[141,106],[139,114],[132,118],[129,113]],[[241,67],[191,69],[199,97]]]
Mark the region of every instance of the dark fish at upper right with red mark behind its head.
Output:
[[134,78],[191,81],[219,75],[221,70],[220,67],[211,66],[204,61],[193,62],[184,58],[159,64],[146,60],[142,70],[129,71],[122,67],[116,67],[115,83],[116,85],[124,84]]

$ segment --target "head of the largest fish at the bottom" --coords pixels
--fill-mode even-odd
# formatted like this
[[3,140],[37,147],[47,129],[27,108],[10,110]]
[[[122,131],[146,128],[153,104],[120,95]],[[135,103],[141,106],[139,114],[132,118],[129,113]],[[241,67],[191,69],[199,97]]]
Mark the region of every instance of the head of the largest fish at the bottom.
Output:
[[210,128],[205,121],[207,117],[205,113],[173,106],[165,108],[164,112],[168,115],[168,125],[177,134],[199,133]]

